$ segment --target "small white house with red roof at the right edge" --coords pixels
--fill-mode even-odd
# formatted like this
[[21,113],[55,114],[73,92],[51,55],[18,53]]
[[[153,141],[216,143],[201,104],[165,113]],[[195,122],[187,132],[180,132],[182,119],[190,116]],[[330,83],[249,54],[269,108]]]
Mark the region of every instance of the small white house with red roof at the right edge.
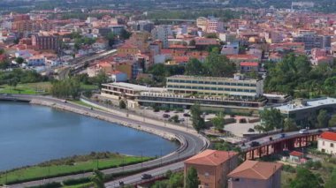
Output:
[[336,154],[336,132],[323,132],[317,138],[318,151],[326,154]]

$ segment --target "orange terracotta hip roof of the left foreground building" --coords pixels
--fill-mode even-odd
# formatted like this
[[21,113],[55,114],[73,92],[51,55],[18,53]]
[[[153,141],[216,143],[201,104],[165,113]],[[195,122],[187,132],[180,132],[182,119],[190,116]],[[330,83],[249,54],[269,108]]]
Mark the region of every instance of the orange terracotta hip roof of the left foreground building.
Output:
[[236,152],[232,151],[226,152],[207,149],[201,154],[196,154],[195,156],[187,159],[185,163],[218,166],[219,164],[226,162],[236,154]]

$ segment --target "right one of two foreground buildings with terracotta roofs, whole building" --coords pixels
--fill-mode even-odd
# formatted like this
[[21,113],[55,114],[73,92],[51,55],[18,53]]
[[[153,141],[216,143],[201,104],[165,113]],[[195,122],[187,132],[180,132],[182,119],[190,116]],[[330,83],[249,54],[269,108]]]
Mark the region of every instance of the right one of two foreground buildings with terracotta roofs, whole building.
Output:
[[228,175],[228,188],[280,188],[281,163],[246,161]]

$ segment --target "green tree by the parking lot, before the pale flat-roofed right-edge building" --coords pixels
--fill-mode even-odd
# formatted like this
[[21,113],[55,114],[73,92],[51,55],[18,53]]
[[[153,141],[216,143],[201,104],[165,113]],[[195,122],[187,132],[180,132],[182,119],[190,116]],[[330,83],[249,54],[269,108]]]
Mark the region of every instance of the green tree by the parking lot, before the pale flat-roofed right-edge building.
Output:
[[259,132],[270,132],[284,127],[284,117],[281,116],[279,109],[263,109],[260,112],[260,118],[261,124],[256,126]]

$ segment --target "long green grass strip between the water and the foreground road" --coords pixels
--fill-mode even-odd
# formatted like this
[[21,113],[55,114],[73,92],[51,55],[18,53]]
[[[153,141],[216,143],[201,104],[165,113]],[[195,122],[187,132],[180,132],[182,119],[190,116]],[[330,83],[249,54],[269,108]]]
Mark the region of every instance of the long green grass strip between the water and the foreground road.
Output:
[[[143,161],[148,161],[151,158],[143,157]],[[14,182],[18,180],[29,180],[29,179],[42,179],[43,177],[49,176],[62,176],[70,173],[82,173],[84,171],[90,171],[91,169],[96,169],[97,165],[99,169],[108,169],[117,166],[122,166],[123,164],[139,163],[141,162],[141,157],[137,156],[115,156],[109,159],[101,160],[89,160],[87,162],[75,162],[72,165],[51,165],[51,166],[33,166],[25,169],[15,169],[7,173],[7,182]],[[0,184],[5,184],[6,175],[3,172],[0,174]]]

